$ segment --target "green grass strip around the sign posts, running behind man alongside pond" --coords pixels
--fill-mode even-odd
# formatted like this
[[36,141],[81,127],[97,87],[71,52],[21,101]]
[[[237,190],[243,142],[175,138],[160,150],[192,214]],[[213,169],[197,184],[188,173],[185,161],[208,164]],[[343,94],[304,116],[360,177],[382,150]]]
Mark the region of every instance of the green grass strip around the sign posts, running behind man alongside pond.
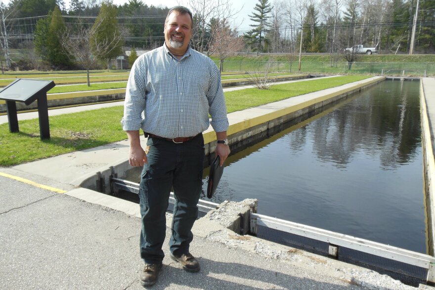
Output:
[[[307,82],[277,84],[269,90],[249,88],[225,93],[228,113],[292,96],[351,83],[368,76],[345,76]],[[72,151],[97,147],[126,138],[121,128],[121,106],[50,117],[51,139],[41,141],[39,120],[19,122],[20,132],[0,124],[0,165],[13,166]]]

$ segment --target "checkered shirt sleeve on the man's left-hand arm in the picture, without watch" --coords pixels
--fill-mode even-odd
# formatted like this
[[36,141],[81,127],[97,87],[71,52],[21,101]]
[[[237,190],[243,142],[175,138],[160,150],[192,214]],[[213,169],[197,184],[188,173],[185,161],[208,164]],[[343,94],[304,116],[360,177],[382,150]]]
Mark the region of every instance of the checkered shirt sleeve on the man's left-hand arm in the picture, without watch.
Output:
[[[121,120],[123,130],[139,130],[145,110],[146,64],[143,57],[133,63],[127,82],[126,99],[124,102],[124,117]],[[145,114],[145,113],[144,113]]]

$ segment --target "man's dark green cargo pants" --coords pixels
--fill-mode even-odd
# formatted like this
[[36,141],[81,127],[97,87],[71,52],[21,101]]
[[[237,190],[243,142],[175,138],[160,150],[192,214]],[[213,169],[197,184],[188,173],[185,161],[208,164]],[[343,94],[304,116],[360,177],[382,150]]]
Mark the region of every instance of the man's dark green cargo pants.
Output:
[[166,216],[171,189],[174,188],[174,215],[169,242],[174,255],[189,252],[191,232],[198,216],[198,200],[202,190],[204,138],[176,144],[165,139],[148,137],[148,162],[143,166],[140,181],[140,213],[142,230],[140,256],[145,263],[160,263],[166,234]]

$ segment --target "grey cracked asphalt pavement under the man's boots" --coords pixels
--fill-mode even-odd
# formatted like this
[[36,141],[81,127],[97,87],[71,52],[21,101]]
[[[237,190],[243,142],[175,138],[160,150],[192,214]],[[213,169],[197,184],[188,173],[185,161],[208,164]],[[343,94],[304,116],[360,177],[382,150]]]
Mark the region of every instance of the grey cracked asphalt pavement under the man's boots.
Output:
[[[139,218],[2,176],[0,184],[0,289],[143,289]],[[284,261],[201,237],[191,252],[199,273],[165,257],[152,289],[381,289],[383,279],[358,281],[336,261],[304,254]],[[412,289],[390,280],[382,289]]]

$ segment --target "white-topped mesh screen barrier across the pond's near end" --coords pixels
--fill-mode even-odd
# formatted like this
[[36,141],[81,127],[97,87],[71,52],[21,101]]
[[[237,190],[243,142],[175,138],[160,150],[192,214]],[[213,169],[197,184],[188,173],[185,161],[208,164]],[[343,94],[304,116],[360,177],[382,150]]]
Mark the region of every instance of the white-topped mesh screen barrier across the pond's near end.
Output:
[[[110,186],[112,194],[120,190],[139,193],[139,184],[128,180],[111,177]],[[173,212],[174,203],[171,193],[167,211]],[[216,203],[200,200],[198,217],[217,207]],[[251,213],[250,233],[267,241],[368,268],[408,285],[435,283],[435,257],[426,254],[257,213]]]

